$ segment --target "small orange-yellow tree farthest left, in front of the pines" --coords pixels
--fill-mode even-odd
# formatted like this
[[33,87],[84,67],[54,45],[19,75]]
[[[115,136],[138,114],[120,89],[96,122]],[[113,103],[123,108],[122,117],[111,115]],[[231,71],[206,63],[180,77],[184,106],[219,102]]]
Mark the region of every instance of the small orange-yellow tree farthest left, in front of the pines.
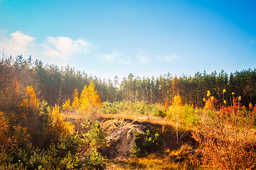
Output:
[[20,106],[24,108],[36,108],[36,106],[38,106],[38,98],[36,98],[36,93],[32,86],[27,86],[25,97],[23,101],[21,101]]

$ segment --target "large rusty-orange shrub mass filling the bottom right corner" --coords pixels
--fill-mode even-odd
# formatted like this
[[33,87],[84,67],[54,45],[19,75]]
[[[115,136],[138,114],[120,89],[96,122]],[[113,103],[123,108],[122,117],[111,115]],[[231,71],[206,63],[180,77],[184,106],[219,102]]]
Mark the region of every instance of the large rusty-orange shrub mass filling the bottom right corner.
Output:
[[254,119],[240,111],[239,100],[235,102],[233,106],[223,106],[221,111],[203,112],[203,118],[193,132],[199,148],[191,162],[210,166],[211,169],[254,168]]

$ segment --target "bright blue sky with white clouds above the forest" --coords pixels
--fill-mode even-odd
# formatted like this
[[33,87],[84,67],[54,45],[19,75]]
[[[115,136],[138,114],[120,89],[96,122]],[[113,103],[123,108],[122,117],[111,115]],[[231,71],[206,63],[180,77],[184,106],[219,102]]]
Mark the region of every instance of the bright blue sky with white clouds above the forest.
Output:
[[0,0],[0,47],[102,79],[256,66],[256,1]]

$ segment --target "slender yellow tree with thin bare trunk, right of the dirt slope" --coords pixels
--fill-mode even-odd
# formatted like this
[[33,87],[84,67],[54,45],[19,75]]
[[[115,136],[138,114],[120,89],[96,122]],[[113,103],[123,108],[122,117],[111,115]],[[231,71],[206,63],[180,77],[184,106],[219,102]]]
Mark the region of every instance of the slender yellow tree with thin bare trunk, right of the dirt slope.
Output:
[[177,145],[178,145],[178,125],[181,123],[181,120],[183,120],[184,117],[185,115],[184,115],[183,105],[181,102],[181,96],[179,96],[178,94],[174,96],[173,102],[171,103],[171,106],[167,111],[167,118],[169,118],[169,120],[172,120],[176,124]]

